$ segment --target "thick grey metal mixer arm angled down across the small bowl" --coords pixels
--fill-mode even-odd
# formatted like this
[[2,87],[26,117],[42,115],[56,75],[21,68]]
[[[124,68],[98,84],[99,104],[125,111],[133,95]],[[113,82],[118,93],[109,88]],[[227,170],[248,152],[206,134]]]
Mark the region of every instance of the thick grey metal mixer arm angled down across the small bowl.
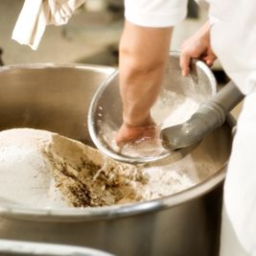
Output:
[[223,125],[226,115],[244,99],[244,94],[229,81],[186,122],[161,130],[163,146],[169,151],[193,151],[215,128]]

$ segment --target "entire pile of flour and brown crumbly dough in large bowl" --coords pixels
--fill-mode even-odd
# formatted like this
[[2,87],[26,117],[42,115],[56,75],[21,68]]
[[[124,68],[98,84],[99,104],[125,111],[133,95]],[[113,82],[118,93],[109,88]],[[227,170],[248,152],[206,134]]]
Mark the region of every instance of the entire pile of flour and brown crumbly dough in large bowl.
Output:
[[[170,196],[198,181],[190,156],[142,168],[45,130],[0,132],[0,201],[39,208],[103,206]],[[189,171],[189,173],[188,173]]]

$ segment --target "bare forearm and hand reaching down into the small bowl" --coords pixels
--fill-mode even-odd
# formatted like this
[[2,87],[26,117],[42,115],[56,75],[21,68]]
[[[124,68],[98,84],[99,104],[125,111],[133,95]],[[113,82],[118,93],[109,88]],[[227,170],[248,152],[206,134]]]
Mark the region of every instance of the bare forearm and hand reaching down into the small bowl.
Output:
[[120,42],[124,123],[116,136],[119,145],[154,135],[151,106],[168,62],[172,31],[172,27],[141,27],[126,21]]

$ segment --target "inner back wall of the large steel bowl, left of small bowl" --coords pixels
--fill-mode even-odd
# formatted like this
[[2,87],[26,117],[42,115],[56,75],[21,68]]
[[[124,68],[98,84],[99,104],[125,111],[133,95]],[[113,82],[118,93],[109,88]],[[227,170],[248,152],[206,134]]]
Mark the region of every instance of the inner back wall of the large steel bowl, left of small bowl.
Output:
[[93,145],[86,117],[98,85],[115,69],[26,64],[0,69],[0,130],[40,128]]

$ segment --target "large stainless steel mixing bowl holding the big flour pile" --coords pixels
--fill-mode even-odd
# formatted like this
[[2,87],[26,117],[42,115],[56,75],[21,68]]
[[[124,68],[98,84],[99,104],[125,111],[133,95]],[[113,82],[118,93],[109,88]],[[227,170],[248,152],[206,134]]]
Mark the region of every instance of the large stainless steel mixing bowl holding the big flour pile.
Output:
[[[0,130],[42,128],[91,145],[88,106],[113,71],[75,64],[1,67]],[[193,152],[195,161],[204,158],[215,165],[191,189],[143,203],[94,209],[32,209],[0,201],[0,238],[77,244],[128,256],[217,255],[231,127],[228,123],[217,129]]]

